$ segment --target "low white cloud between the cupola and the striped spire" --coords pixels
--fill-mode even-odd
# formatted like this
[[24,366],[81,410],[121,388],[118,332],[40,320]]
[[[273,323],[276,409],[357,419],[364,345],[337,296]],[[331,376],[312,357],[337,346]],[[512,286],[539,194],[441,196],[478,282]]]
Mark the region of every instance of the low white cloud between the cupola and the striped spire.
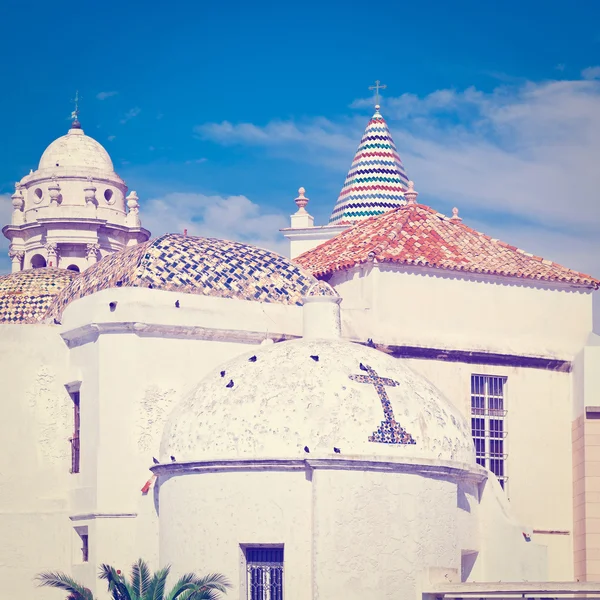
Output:
[[245,196],[205,196],[196,193],[174,192],[141,199],[142,225],[152,235],[182,233],[216,237],[254,244],[287,252],[287,242],[279,229],[288,225],[283,214],[264,212]]

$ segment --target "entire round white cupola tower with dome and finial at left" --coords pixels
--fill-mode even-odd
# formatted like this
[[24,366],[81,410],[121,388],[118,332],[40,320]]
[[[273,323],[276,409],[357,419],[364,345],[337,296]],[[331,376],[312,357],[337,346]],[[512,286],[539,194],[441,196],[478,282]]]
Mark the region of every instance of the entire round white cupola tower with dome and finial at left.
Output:
[[11,223],[2,229],[13,272],[45,266],[83,271],[150,237],[108,152],[85,135],[77,115],[67,134],[46,148],[38,169],[15,185]]

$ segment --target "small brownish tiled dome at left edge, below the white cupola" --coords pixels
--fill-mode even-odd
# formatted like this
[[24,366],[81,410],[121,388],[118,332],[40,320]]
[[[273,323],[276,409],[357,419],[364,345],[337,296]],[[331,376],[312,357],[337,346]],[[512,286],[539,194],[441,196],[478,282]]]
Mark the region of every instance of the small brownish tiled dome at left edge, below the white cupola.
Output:
[[79,273],[68,269],[28,269],[0,277],[0,324],[37,323],[56,295]]

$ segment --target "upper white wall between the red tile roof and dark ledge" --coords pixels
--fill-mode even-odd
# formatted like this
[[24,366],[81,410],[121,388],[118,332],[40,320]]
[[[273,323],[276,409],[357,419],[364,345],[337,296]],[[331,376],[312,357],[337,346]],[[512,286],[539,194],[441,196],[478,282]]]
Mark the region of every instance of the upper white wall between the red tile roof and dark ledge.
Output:
[[585,289],[391,265],[336,273],[330,283],[344,298],[346,331],[379,343],[570,358],[592,329]]

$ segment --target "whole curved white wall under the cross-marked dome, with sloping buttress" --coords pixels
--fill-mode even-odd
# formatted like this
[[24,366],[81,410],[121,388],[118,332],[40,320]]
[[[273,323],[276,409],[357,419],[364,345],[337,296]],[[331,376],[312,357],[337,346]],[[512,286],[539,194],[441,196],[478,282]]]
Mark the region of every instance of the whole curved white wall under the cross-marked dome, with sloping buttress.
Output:
[[224,573],[235,599],[246,597],[242,545],[284,546],[294,600],[417,600],[432,571],[460,581],[465,551],[478,553],[480,581],[539,580],[544,549],[488,496],[480,507],[473,483],[378,469],[172,473],[160,479],[160,563]]

